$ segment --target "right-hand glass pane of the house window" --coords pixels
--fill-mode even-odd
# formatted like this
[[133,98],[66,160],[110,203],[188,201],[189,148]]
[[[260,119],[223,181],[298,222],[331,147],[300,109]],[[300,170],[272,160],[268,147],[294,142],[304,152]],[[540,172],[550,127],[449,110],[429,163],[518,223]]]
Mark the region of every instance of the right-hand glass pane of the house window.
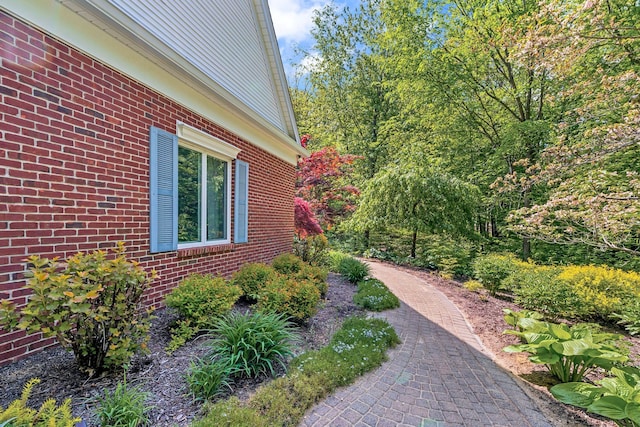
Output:
[[227,238],[227,162],[207,157],[207,240]]

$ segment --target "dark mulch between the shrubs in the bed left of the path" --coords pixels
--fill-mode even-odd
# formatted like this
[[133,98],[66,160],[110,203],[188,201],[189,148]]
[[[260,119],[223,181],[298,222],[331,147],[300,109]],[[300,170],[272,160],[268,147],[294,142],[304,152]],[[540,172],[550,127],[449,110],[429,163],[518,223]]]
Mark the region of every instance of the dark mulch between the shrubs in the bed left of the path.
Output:
[[[335,274],[329,274],[328,283],[329,291],[318,313],[300,328],[302,343],[296,353],[323,347],[346,317],[363,313],[352,302],[355,286]],[[235,309],[246,310],[248,306],[238,304]],[[202,402],[196,402],[189,396],[184,376],[191,361],[206,353],[207,338],[198,337],[168,355],[164,348],[169,343],[169,327],[176,316],[166,309],[158,310],[155,316],[149,341],[150,353],[134,358],[127,372],[127,383],[139,385],[150,393],[148,403],[151,406],[151,425],[187,426],[201,415]],[[73,414],[83,418],[88,425],[97,425],[93,415],[97,397],[105,390],[113,390],[123,379],[122,372],[100,378],[87,378],[77,369],[71,353],[55,347],[0,368],[0,406],[6,408],[17,399],[24,384],[34,377],[40,378],[42,382],[33,390],[29,400],[30,407],[39,407],[50,397],[58,402],[70,397]],[[266,377],[245,380],[233,387],[233,394],[246,399],[261,383],[268,380]]]

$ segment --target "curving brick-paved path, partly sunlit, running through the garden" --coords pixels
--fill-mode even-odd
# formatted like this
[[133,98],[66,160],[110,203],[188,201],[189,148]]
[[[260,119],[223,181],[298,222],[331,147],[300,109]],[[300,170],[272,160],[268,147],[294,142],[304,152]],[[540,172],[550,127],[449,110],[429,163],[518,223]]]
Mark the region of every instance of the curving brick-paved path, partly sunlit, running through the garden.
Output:
[[380,315],[402,344],[379,369],[316,405],[301,426],[552,426],[444,294],[409,273],[370,265],[402,300]]

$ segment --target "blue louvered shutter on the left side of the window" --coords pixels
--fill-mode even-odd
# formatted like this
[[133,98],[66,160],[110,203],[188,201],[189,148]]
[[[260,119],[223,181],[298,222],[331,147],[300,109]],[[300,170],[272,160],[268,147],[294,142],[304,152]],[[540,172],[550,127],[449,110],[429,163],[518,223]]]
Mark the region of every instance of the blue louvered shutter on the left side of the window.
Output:
[[178,249],[178,137],[151,127],[151,252]]

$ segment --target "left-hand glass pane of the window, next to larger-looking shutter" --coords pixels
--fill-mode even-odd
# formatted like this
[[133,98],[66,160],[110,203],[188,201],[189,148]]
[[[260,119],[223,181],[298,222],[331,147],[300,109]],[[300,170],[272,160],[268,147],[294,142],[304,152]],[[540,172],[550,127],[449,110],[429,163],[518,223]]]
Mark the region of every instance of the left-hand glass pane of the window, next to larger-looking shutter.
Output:
[[178,147],[178,242],[199,242],[202,154]]

